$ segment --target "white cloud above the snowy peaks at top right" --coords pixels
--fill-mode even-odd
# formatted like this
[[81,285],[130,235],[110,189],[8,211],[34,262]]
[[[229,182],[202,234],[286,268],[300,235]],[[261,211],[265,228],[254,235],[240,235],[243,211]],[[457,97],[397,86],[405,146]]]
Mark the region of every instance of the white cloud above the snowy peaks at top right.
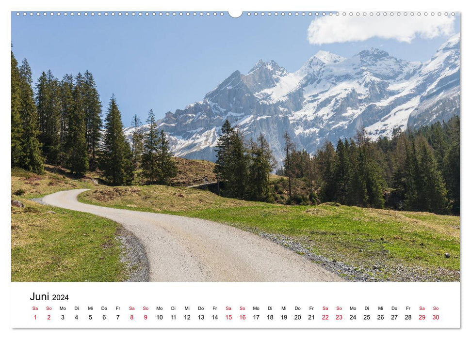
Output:
[[312,45],[365,41],[378,37],[410,43],[414,38],[431,39],[454,33],[455,16],[323,16],[308,28]]

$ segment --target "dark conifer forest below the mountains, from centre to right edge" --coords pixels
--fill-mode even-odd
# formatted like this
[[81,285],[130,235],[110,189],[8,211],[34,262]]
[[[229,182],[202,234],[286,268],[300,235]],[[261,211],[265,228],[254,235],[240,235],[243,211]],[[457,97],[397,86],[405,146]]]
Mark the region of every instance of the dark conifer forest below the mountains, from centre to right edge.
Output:
[[[226,122],[216,150],[222,195],[287,204],[338,202],[359,207],[459,214],[459,117],[416,131],[394,130],[391,139],[325,142],[315,154],[296,150],[285,134],[282,177],[269,180],[275,162],[260,135],[244,145]],[[299,189],[304,183],[304,189]]]

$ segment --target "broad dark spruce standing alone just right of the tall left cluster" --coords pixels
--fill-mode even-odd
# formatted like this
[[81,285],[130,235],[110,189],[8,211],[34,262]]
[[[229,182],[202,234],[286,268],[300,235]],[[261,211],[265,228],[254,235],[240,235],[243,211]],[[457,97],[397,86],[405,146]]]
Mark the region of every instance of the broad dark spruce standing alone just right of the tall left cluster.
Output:
[[132,154],[123,133],[121,112],[114,95],[105,118],[105,134],[101,150],[100,170],[111,185],[131,185],[133,179]]

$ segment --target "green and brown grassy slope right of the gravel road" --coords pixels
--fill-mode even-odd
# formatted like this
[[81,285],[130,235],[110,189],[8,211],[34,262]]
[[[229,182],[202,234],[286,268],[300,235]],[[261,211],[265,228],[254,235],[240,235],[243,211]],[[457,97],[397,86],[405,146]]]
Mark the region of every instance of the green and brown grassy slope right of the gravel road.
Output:
[[[459,280],[459,217],[456,216],[329,204],[284,206],[159,185],[100,187],[83,193],[80,199],[287,235],[313,253],[349,263],[359,270],[378,265],[379,272],[391,280],[410,278],[403,276],[398,269],[401,266],[429,280],[435,277]],[[445,252],[451,257],[445,258]]]

